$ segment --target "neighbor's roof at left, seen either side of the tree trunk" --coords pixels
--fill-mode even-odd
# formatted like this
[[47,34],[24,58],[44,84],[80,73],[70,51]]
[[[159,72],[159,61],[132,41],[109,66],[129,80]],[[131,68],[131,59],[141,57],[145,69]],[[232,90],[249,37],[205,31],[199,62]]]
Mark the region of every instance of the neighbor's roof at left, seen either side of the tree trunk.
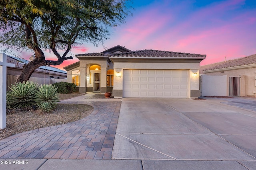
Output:
[[[30,61],[25,60],[25,59],[20,59],[18,57],[12,57],[12,56],[7,56],[7,63],[12,63],[15,64],[15,68],[23,68],[24,64],[28,64]],[[50,70],[50,71],[49,71]],[[67,75],[67,72],[64,70],[60,70],[55,67],[48,67],[48,66],[40,66],[39,68],[36,68],[37,72],[46,72],[46,73],[51,73],[51,74],[58,74],[58,75]]]

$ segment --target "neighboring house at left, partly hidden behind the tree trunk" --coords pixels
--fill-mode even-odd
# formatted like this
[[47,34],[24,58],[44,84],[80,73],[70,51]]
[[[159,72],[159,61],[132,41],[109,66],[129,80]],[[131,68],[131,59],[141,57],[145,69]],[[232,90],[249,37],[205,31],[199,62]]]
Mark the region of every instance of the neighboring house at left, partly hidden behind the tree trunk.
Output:
[[[30,57],[30,60],[33,60],[33,56]],[[27,64],[30,61],[20,59],[17,57],[12,57],[7,55],[7,63],[15,64],[15,67],[7,67],[7,87],[10,86],[10,84],[14,84],[20,76],[22,70],[23,70],[23,64]],[[36,80],[38,82],[38,78],[54,78],[54,79],[64,79],[67,78],[67,73],[64,70],[60,70],[55,67],[49,67],[49,66],[40,66],[37,68],[33,74],[30,77],[31,81]],[[43,81],[44,82],[44,81]],[[49,82],[49,81],[48,81]],[[41,83],[39,83],[41,84]],[[9,90],[9,89],[8,89]]]

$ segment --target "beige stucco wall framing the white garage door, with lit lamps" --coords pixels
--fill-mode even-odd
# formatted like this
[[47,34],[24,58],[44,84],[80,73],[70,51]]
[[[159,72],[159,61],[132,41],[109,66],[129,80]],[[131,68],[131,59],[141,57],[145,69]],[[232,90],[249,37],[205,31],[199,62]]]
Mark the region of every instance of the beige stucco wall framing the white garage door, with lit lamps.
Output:
[[[190,90],[199,90],[199,63],[114,63],[114,90],[123,90],[123,69],[177,69],[189,70],[188,96]],[[121,78],[116,78],[116,73],[121,73]],[[194,73],[197,73],[194,75]]]

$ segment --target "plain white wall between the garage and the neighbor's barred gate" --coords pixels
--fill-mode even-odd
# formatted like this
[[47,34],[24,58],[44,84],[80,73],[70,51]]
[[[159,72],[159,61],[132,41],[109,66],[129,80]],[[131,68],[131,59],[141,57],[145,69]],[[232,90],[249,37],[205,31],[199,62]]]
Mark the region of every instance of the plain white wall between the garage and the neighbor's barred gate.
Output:
[[202,74],[202,96],[227,96],[227,76]]

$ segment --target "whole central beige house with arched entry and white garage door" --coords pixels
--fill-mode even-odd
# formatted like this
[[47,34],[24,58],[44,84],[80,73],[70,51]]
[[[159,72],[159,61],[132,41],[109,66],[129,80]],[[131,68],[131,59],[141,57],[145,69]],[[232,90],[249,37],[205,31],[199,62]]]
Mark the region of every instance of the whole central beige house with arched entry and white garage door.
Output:
[[120,45],[76,55],[64,67],[67,82],[81,93],[112,92],[114,98],[197,98],[199,63],[206,55],[158,50],[131,51]]

